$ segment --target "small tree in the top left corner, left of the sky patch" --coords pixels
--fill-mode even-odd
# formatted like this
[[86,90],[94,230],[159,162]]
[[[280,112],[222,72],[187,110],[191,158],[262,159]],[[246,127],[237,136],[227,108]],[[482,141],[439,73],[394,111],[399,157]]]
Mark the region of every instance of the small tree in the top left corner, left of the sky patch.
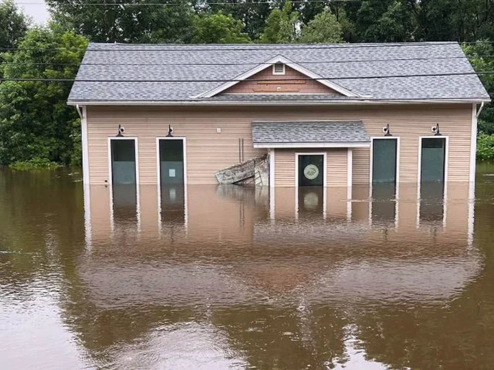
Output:
[[0,48],[16,47],[29,24],[30,19],[17,9],[13,0],[0,3]]

